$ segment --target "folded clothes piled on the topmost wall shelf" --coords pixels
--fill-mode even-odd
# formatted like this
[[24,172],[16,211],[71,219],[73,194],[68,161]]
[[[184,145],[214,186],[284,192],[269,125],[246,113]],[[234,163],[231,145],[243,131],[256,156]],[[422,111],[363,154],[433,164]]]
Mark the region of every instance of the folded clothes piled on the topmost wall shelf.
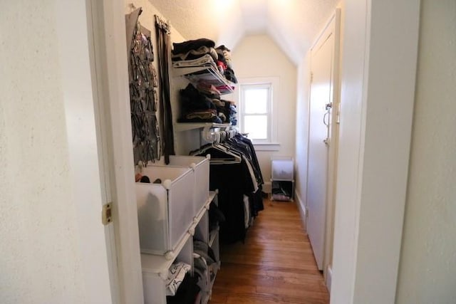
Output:
[[[207,38],[184,41],[182,43],[172,43],[172,66],[174,68],[190,67],[210,67],[218,70],[220,74],[231,81],[237,83],[236,76],[231,61],[231,53],[226,46],[215,48],[214,41]],[[228,90],[226,85],[222,85],[218,90]]]

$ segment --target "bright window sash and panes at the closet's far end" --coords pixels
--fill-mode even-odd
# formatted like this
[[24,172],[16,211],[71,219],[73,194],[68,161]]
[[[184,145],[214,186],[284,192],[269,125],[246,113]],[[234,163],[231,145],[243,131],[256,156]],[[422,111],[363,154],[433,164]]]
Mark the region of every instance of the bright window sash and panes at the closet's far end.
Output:
[[271,142],[271,83],[240,86],[240,127],[254,143]]

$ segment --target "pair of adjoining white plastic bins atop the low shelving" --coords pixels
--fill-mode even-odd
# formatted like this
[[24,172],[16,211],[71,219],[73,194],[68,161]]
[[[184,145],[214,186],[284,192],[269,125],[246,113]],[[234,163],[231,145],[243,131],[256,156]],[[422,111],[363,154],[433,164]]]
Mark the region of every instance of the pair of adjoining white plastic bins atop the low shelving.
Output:
[[209,197],[209,159],[170,157],[142,168],[150,182],[136,183],[140,249],[163,255],[174,251]]

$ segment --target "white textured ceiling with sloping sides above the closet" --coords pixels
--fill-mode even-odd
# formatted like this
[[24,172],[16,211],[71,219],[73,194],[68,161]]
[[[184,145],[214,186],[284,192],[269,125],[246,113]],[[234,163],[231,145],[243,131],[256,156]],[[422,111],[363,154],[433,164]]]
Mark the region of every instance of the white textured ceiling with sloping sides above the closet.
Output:
[[235,48],[266,33],[299,63],[338,0],[149,0],[186,39],[209,38]]

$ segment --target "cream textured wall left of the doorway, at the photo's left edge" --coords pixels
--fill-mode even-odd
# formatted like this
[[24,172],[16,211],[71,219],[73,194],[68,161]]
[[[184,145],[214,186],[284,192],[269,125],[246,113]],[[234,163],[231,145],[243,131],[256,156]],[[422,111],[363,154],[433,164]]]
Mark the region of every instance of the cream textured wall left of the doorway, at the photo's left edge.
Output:
[[54,1],[0,11],[0,302],[84,303]]

